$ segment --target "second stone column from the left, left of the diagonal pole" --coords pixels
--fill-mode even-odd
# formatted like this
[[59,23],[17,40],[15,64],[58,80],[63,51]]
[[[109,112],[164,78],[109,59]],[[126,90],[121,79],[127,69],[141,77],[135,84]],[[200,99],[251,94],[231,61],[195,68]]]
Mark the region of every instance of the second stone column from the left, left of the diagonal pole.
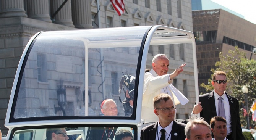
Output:
[[49,14],[48,0],[27,0],[28,18],[52,23]]

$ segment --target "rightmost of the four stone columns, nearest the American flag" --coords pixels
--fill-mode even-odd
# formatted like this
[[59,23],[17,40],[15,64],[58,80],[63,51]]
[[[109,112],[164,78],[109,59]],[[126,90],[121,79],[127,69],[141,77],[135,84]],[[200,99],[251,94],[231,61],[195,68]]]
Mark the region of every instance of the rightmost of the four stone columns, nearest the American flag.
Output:
[[79,29],[91,29],[92,15],[90,0],[72,0],[73,24]]

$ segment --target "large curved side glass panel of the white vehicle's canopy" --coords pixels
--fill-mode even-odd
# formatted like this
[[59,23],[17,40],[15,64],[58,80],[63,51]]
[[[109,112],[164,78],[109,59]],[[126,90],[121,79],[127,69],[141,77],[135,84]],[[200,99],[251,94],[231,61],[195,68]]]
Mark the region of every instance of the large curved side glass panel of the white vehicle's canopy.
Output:
[[[148,28],[39,34],[24,58],[13,119],[131,116],[139,51]],[[133,82],[130,89],[129,83],[123,85],[127,78]],[[102,106],[105,99],[114,103]]]

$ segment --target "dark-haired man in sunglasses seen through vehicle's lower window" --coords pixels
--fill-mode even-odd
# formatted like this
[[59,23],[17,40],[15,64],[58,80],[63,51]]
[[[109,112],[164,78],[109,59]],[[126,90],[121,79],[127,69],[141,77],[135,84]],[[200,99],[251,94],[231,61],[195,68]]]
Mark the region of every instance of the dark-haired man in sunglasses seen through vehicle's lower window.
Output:
[[65,128],[48,128],[46,129],[47,140],[68,140]]

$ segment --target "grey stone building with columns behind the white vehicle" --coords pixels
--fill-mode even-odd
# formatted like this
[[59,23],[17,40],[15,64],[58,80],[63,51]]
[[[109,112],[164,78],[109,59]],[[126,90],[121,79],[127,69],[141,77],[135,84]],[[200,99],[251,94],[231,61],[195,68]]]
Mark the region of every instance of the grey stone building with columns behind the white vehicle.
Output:
[[[100,23],[96,0],[63,2],[65,0],[0,1],[0,127],[3,134],[7,134],[5,115],[19,59],[29,39],[37,32],[146,25],[164,25],[193,32],[190,0],[124,0],[125,12],[121,16],[109,0],[100,0]],[[174,70],[172,64],[193,63],[189,45],[159,46],[149,51],[149,62],[157,53],[167,54],[169,72]],[[147,63],[147,67],[151,68],[151,63]],[[193,70],[188,68],[175,79],[175,87],[192,99],[177,110],[180,119],[186,119],[193,109],[193,76]],[[115,98],[117,100],[118,96]]]

